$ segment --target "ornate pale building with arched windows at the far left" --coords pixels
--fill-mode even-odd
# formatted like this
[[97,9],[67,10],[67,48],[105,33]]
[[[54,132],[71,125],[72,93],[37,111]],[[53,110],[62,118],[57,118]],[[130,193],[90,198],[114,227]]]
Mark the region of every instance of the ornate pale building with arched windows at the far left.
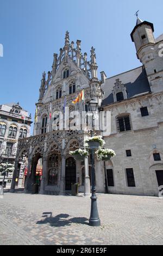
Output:
[[[15,162],[18,138],[30,136],[31,117],[19,103],[0,106],[0,163]],[[5,187],[10,188],[12,174],[5,177]],[[0,173],[0,182],[3,176]],[[16,185],[22,187],[24,182],[24,162],[20,159],[16,170]]]

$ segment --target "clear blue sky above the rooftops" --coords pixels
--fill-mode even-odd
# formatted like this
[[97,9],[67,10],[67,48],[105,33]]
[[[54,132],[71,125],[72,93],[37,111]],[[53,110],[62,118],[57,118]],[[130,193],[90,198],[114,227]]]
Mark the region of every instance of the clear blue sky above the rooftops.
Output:
[[136,68],[130,39],[136,17],[154,23],[155,37],[163,33],[162,0],[0,0],[0,104],[19,101],[32,113],[39,97],[42,72],[51,70],[53,53],[70,41],[82,40],[90,57],[96,48],[99,72],[113,76]]

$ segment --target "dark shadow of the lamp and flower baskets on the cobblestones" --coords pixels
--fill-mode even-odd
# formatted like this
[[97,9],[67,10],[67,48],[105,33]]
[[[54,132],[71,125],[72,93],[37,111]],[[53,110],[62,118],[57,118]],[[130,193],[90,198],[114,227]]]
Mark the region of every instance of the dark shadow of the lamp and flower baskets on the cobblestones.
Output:
[[84,217],[68,218],[68,217],[71,217],[68,214],[59,214],[53,217],[52,212],[43,212],[42,217],[45,217],[45,219],[41,221],[37,221],[36,224],[48,223],[52,227],[64,227],[66,225],[71,225],[73,223],[89,225],[88,223],[89,220],[87,218],[84,218]]

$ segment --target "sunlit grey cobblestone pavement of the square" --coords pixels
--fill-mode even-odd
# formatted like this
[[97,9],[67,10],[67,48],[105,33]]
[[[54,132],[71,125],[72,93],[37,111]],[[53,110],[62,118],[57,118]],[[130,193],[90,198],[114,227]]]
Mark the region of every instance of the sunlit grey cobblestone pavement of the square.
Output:
[[163,245],[163,200],[98,194],[101,227],[90,227],[90,198],[5,193],[0,245]]

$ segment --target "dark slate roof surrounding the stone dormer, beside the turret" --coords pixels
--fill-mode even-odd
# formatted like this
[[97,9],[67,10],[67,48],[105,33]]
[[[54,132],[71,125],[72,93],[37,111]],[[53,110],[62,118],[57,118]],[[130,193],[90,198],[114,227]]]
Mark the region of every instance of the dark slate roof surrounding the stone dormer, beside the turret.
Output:
[[102,84],[102,89],[104,90],[102,106],[114,103],[112,90],[115,86],[116,79],[120,79],[122,84],[124,84],[126,87],[128,99],[151,92],[146,70],[143,66],[140,66],[139,68],[124,72],[120,75],[116,75],[105,80],[105,83]]

